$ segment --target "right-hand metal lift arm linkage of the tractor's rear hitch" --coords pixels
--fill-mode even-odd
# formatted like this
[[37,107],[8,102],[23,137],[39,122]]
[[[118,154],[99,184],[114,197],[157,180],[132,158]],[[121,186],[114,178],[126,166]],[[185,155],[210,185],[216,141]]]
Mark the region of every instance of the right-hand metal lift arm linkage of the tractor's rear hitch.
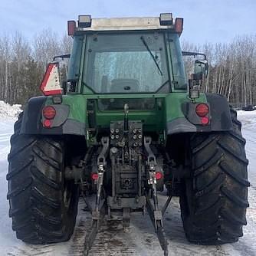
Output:
[[168,256],[168,242],[166,238],[166,232],[163,228],[162,216],[166,211],[167,206],[171,199],[168,199],[166,205],[162,209],[159,210],[158,199],[157,199],[157,191],[156,191],[156,156],[154,156],[153,151],[150,149],[151,138],[144,138],[145,149],[148,153],[148,183],[152,186],[153,192],[153,204],[149,199],[149,195],[146,196],[146,208],[149,212],[149,217],[153,222],[155,227],[156,235],[159,239],[159,243],[164,251],[164,256]]

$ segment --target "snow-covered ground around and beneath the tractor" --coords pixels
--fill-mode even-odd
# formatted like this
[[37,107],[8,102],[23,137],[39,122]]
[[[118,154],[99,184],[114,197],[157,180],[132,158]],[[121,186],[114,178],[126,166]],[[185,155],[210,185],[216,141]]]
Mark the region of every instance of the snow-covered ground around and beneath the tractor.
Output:
[[[5,176],[8,169],[7,156],[10,149],[9,139],[13,133],[14,116],[18,113],[11,107],[1,108],[0,102],[0,256],[28,256],[28,255],[82,255],[84,235],[90,226],[90,215],[84,212],[84,203],[80,202],[77,215],[77,225],[70,241],[57,245],[25,245],[15,237],[11,230],[11,219],[8,218],[8,201],[6,200],[7,182]],[[3,111],[5,110],[5,111]],[[6,114],[7,112],[7,114]],[[4,114],[2,114],[4,113]],[[8,117],[10,113],[11,117]],[[4,117],[1,117],[4,116]],[[251,187],[248,191],[247,219],[248,225],[244,228],[244,236],[231,245],[202,246],[189,244],[185,239],[180,218],[179,199],[175,198],[167,209],[164,225],[169,239],[169,255],[256,255],[256,111],[238,111],[238,119],[243,123],[243,136],[247,139],[246,152],[249,159],[248,176]],[[166,200],[165,195],[160,195],[160,204]],[[97,239],[90,251],[90,256],[118,256],[118,255],[162,255],[162,250],[149,221],[149,216],[134,216],[128,231],[118,222],[111,226],[104,224],[97,235]]]

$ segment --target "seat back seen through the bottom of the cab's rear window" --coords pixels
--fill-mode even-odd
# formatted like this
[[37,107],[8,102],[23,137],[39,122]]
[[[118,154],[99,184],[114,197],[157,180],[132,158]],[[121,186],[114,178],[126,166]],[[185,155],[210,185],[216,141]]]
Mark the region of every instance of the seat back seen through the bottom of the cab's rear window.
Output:
[[136,79],[113,79],[111,80],[111,93],[135,93],[139,91],[139,81]]

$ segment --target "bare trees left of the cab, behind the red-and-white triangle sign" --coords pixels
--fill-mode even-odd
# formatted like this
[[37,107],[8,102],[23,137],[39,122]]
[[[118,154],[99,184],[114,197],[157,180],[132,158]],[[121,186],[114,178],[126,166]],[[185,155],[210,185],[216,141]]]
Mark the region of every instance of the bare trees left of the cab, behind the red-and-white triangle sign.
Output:
[[34,34],[31,42],[19,32],[0,38],[0,100],[24,104],[29,97],[40,95],[48,62],[70,53],[71,45],[71,38],[59,38],[50,29]]

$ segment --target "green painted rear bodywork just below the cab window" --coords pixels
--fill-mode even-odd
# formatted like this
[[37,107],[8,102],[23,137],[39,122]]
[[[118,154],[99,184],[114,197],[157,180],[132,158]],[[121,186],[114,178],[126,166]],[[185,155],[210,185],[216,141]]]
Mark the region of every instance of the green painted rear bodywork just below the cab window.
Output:
[[[95,120],[97,128],[108,128],[111,121],[123,120],[123,109],[100,110],[97,104],[99,99],[154,99],[155,107],[151,110],[130,110],[130,120],[142,120],[145,131],[161,132],[166,129],[166,123],[176,118],[184,117],[182,103],[190,102],[186,92],[169,94],[67,94],[63,95],[62,103],[70,106],[68,119],[88,124],[87,100],[95,100]],[[200,94],[196,103],[207,102],[205,94]],[[51,105],[48,97],[46,105]]]

